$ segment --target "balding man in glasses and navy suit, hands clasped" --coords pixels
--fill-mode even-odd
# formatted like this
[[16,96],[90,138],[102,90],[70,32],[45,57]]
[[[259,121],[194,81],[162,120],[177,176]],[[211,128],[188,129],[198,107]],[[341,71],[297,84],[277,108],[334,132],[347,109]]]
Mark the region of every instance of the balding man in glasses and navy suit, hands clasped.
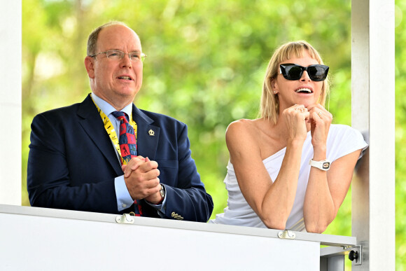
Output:
[[[187,126],[132,104],[144,58],[139,36],[122,22],[90,34],[85,67],[92,93],[32,121],[31,206],[111,214],[137,208],[143,216],[209,220],[213,201],[190,156]],[[126,113],[137,131],[138,156],[123,166],[115,111]]]

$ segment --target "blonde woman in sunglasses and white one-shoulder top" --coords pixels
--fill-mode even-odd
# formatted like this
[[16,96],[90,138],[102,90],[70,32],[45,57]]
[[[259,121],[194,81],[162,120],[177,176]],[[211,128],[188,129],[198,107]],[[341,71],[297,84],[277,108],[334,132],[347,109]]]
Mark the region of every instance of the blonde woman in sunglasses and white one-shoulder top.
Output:
[[306,41],[283,44],[269,61],[260,118],[231,123],[228,207],[211,223],[323,232],[349,189],[367,144],[332,125],[324,108],[328,67]]

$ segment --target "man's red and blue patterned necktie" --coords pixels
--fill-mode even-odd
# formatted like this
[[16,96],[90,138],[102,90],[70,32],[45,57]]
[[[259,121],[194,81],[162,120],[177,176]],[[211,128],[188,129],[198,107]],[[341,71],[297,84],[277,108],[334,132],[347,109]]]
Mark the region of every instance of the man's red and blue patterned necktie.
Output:
[[[127,162],[133,157],[137,157],[137,139],[135,138],[134,128],[128,123],[128,116],[124,112],[114,111],[113,116],[120,120],[120,135],[118,144],[121,151],[121,165],[127,165]],[[135,216],[142,216],[141,204],[134,200]]]

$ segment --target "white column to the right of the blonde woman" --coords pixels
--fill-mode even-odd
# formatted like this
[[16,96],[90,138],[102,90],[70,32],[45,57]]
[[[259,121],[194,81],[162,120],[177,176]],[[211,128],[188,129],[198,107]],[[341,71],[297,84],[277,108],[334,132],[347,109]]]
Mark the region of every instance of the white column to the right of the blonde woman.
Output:
[[354,0],[352,126],[370,147],[352,183],[353,270],[395,270],[395,3]]

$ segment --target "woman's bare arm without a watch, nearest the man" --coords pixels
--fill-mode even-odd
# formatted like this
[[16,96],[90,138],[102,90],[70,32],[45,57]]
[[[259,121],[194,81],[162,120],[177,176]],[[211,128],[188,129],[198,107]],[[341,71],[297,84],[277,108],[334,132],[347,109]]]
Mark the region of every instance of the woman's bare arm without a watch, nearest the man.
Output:
[[[307,111],[286,109],[293,118],[288,144],[278,176],[272,183],[262,162],[258,130],[250,120],[232,123],[226,132],[230,162],[235,169],[241,193],[268,228],[284,229],[295,200],[302,146],[307,136],[304,120]],[[300,123],[300,124],[297,124]],[[301,126],[302,125],[302,126]]]

